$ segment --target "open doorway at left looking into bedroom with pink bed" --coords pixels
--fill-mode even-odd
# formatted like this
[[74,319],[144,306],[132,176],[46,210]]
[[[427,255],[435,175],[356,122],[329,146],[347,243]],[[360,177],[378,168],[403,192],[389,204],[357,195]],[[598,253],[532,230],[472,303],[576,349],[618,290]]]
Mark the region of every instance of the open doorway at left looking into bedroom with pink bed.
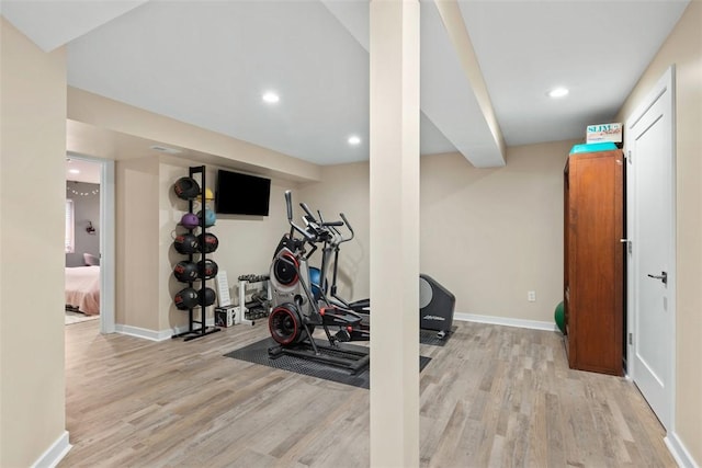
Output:
[[[98,270],[99,277],[95,286],[99,289],[99,299],[97,300],[99,305],[95,305],[94,308],[99,311],[100,331],[101,333],[113,333],[115,331],[114,161],[70,152],[67,153],[66,160],[67,199],[69,197],[73,198],[73,205],[77,205],[89,197],[93,197],[97,204],[95,207],[87,208],[82,212],[82,215],[73,219],[72,226],[76,240],[82,239],[82,243],[70,249],[70,253],[67,247],[67,271],[69,270],[68,267],[77,266],[94,266],[94,270]],[[69,181],[72,181],[72,183]],[[69,213],[68,206],[67,202],[67,217]],[[93,274],[91,272],[87,273]],[[81,290],[78,295],[83,293],[86,292]],[[68,295],[69,293],[67,292]],[[87,298],[83,304],[84,307],[90,308],[90,298]],[[91,312],[94,312],[94,310],[91,310]]]

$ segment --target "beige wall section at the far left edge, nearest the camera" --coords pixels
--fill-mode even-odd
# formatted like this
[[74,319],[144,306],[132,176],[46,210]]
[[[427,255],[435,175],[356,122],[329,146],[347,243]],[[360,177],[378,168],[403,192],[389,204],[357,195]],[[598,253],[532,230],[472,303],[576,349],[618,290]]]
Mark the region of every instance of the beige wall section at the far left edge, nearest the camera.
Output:
[[0,466],[25,467],[66,427],[66,54],[0,22]]

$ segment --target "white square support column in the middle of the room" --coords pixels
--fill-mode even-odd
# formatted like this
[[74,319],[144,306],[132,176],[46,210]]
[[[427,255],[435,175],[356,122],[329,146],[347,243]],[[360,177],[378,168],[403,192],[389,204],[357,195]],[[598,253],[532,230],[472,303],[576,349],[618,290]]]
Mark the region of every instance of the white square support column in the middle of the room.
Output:
[[371,466],[419,466],[419,1],[371,1]]

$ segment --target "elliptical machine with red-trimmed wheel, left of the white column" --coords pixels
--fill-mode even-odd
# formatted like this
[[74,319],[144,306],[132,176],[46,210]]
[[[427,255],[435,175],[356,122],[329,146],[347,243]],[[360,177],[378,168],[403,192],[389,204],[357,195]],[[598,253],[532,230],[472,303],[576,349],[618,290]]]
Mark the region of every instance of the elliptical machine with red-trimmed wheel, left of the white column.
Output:
[[[285,204],[291,230],[283,235],[271,263],[272,311],[269,316],[269,330],[278,345],[269,349],[269,356],[303,357],[355,374],[367,367],[367,350],[349,350],[339,343],[367,341],[370,324],[361,315],[331,304],[324,293],[315,297],[307,265],[318,244],[326,246],[333,238],[330,229],[342,226],[343,221],[316,222],[307,206],[301,203],[308,215],[303,229],[293,221],[290,191],[285,192]],[[296,233],[299,237],[295,237]],[[328,344],[314,339],[316,327],[324,329]],[[332,334],[332,330],[336,333]]]

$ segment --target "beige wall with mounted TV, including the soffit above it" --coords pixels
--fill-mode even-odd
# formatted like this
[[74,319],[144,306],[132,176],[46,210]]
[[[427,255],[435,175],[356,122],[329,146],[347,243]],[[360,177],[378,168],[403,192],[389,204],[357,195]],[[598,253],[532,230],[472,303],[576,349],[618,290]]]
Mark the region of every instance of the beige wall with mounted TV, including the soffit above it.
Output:
[[[286,226],[283,191],[320,174],[316,164],[75,88],[68,88],[68,117],[69,151],[116,161],[118,326],[162,334],[188,324],[188,312],[172,303],[184,286],[172,276],[172,266],[183,258],[172,248],[173,229],[188,207],[173,195],[172,184],[188,174],[188,167],[205,164],[212,189],[218,167],[273,181],[269,217],[228,217],[212,229],[220,238],[212,258],[227,271],[231,286],[240,274],[268,271]],[[152,145],[181,152],[165,156]],[[212,317],[212,308],[207,312]]]

